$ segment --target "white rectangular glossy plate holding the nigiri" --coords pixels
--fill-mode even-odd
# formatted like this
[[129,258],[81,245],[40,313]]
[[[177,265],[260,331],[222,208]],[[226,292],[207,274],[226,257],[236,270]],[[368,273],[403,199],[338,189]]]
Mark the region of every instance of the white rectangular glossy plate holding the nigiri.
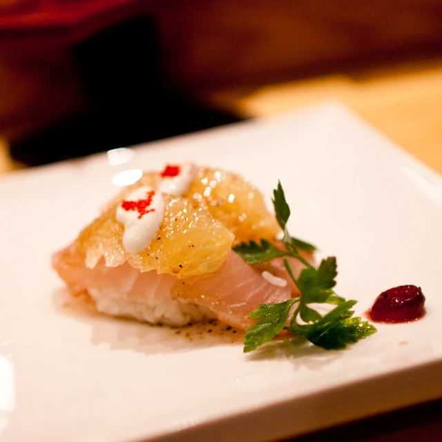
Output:
[[[100,154],[0,179],[1,442],[266,441],[442,396],[439,175],[337,104],[119,154],[128,161]],[[180,160],[248,175],[269,202],[281,180],[291,234],[337,257],[336,291],[358,300],[357,315],[413,284],[426,316],[343,351],[243,354],[59,309],[51,254],[117,193],[117,174]]]

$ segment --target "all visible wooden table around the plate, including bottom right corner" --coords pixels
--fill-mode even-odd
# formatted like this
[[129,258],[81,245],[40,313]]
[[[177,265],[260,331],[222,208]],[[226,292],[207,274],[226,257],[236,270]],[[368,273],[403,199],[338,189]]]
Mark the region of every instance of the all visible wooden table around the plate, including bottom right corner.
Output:
[[[278,115],[339,100],[407,151],[442,173],[442,58],[301,79],[257,90],[222,90],[206,101],[244,117]],[[0,137],[0,174],[22,169]],[[298,442],[340,440],[442,441],[442,401],[302,436]]]

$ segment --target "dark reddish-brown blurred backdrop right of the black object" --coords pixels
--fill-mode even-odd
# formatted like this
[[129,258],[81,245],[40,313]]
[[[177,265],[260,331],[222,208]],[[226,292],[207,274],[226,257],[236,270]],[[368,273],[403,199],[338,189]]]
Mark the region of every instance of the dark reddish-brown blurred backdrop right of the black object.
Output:
[[441,0],[167,0],[155,18],[168,80],[193,90],[442,53]]

